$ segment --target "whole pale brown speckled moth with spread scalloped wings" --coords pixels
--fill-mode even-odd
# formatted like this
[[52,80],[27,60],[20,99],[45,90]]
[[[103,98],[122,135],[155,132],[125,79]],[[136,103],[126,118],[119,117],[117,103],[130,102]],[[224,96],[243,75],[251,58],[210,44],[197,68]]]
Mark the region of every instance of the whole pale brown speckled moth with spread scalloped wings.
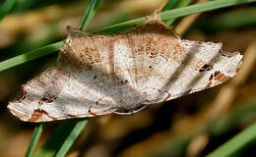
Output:
[[56,66],[23,85],[22,97],[8,105],[22,121],[135,113],[223,83],[242,60],[223,52],[222,43],[180,39],[152,21],[113,35],[68,30]]

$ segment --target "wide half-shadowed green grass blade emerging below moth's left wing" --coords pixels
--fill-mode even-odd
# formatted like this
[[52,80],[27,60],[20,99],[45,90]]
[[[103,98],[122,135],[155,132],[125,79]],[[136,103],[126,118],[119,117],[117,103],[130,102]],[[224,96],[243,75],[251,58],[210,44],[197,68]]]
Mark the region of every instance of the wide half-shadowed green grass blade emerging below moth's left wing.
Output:
[[[43,146],[36,152],[35,157],[52,157],[58,152],[60,147],[64,145],[66,147],[60,149],[59,155],[67,152],[71,144],[76,140],[80,131],[83,130],[87,123],[87,119],[80,120],[66,120],[54,131],[49,139],[43,144]],[[68,140],[67,140],[68,139]],[[71,143],[70,143],[71,142]],[[64,144],[63,144],[64,143]],[[64,155],[63,155],[64,156]]]

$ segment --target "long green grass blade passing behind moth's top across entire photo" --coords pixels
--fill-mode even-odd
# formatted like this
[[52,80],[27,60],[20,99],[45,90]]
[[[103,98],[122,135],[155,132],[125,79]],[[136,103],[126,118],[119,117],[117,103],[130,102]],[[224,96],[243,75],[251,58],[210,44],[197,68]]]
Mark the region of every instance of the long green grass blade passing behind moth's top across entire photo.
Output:
[[[199,12],[207,12],[207,11],[212,11],[215,9],[220,9],[220,8],[224,8],[224,7],[230,7],[230,6],[234,6],[234,5],[238,5],[238,4],[244,4],[244,3],[250,3],[250,2],[256,2],[256,0],[241,0],[241,1],[237,1],[237,0],[218,0],[218,1],[211,1],[211,2],[207,2],[207,3],[203,3],[203,4],[196,4],[196,5],[190,5],[188,7],[184,7],[184,8],[178,8],[178,9],[173,9],[171,11],[165,11],[161,13],[161,20],[162,21],[167,21],[167,20],[173,20],[176,18],[180,18],[183,16],[188,16],[191,14],[195,14],[195,13],[199,13]],[[105,26],[103,28],[100,28],[98,30],[96,30],[97,33],[100,32],[104,32],[104,33],[113,33],[116,32],[118,30],[124,29],[124,28],[128,28],[130,26],[134,26],[134,25],[140,25],[143,24],[145,21],[145,17],[142,18],[138,18],[138,19],[134,19],[131,21],[127,21],[121,24],[117,24],[117,25],[113,25],[113,26]],[[60,46],[61,44],[61,46]],[[57,46],[58,45],[58,46]],[[53,53],[54,51],[56,51],[56,47],[61,48],[63,45],[62,41],[47,45],[45,47],[41,47],[35,50],[32,50],[28,53],[25,53],[23,55],[19,55],[17,57],[11,58],[9,60],[0,62],[0,72],[13,68],[17,65],[29,62],[31,60],[37,59],[39,57],[48,55]],[[50,47],[55,47],[53,49],[50,49]],[[40,52],[39,55],[37,55],[36,53]],[[27,56],[28,58],[30,58],[30,60],[26,60],[24,59],[25,56]],[[18,62],[15,62],[15,61]]]

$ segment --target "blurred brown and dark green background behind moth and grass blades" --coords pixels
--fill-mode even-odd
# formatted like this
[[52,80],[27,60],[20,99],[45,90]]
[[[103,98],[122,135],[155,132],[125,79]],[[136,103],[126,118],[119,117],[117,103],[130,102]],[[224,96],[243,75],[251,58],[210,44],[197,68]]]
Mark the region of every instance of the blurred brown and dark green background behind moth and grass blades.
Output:
[[[150,15],[164,1],[105,0],[89,29]],[[88,4],[86,0],[19,0],[0,24],[0,62],[64,39],[66,26],[78,27]],[[182,38],[223,42],[224,50],[241,52],[244,63],[237,76],[132,116],[92,118],[68,156],[205,156],[256,122],[255,3],[178,19],[173,29]],[[12,116],[6,108],[8,102],[19,94],[21,84],[53,66],[56,56],[48,55],[0,73],[1,157],[24,156],[34,128],[34,124]],[[39,146],[59,124],[45,125]],[[255,148],[248,146],[241,156],[254,156]]]

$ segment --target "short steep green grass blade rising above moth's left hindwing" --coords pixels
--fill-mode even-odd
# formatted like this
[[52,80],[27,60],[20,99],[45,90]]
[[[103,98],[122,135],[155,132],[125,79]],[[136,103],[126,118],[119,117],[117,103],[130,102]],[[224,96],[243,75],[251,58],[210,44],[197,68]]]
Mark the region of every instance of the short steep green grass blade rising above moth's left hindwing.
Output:
[[91,0],[84,17],[80,23],[80,27],[85,31],[93,17],[96,15],[97,9],[101,6],[102,0]]

